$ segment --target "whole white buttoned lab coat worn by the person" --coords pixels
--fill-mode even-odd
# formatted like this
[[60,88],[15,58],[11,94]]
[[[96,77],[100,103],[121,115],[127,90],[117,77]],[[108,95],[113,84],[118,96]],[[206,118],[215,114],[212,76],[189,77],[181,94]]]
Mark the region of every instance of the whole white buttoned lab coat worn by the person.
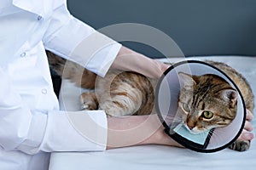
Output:
[[[96,53],[84,52],[90,56],[80,50],[74,53],[95,32],[69,14],[65,0],[1,0],[0,169],[45,170],[51,151],[105,150],[104,111],[59,111],[44,52],[47,48],[80,64],[83,61],[90,71],[104,76],[119,43]],[[90,44],[97,40],[90,38]],[[82,120],[84,127],[77,128],[72,119]],[[93,129],[93,137],[86,136],[91,133],[86,129]]]

